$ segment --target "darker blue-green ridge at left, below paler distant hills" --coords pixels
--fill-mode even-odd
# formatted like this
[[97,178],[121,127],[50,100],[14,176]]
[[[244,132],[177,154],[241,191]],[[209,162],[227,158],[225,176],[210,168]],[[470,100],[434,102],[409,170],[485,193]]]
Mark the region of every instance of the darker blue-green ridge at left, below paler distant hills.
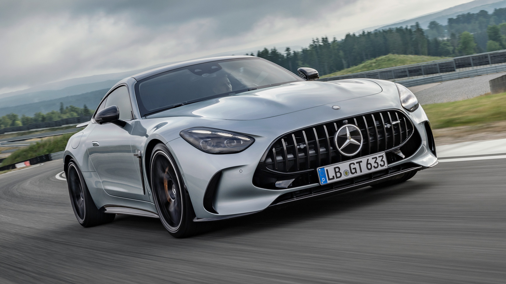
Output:
[[30,103],[24,105],[18,105],[14,107],[0,108],[0,116],[15,113],[17,115],[33,116],[36,112],[47,113],[50,111],[58,111],[60,109],[60,102],[65,106],[76,106],[82,108],[83,105],[94,110],[98,107],[100,100],[104,98],[105,93],[109,88],[76,94],[74,96],[67,96],[63,98],[57,98],[48,101],[42,101],[37,103]]

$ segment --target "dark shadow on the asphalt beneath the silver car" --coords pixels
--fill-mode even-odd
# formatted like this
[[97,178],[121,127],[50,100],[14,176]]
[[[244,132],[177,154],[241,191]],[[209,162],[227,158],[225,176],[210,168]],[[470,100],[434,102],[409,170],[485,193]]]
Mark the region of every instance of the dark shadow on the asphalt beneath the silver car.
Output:
[[[374,188],[368,186],[339,195],[310,198],[287,203],[286,205],[269,207],[262,212],[244,217],[208,222],[207,225],[203,226],[198,235],[220,238],[222,234],[242,234],[288,226],[297,222],[356,210],[405,195],[417,194],[428,190],[432,186],[431,182],[409,180],[389,187]],[[164,230],[160,221],[154,218],[118,215],[112,224],[125,228],[135,227],[136,230],[146,230],[146,233]]]

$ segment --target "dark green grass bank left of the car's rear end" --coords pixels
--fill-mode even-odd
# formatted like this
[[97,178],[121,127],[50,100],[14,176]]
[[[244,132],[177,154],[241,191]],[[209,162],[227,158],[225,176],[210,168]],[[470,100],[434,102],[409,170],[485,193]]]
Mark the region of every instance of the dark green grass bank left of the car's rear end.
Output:
[[11,156],[2,161],[0,167],[28,160],[37,156],[63,151],[65,150],[65,146],[67,146],[68,139],[72,135],[73,133],[54,136],[34,145],[15,151],[11,154]]

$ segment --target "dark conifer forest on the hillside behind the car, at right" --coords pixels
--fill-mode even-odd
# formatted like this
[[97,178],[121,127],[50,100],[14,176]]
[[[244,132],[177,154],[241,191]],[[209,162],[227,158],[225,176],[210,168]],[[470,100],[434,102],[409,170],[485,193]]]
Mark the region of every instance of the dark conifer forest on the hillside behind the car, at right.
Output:
[[492,13],[480,11],[449,18],[446,24],[430,22],[409,27],[348,33],[343,39],[314,38],[307,48],[284,52],[264,48],[248,54],[270,60],[297,74],[311,67],[321,75],[356,66],[388,54],[456,57],[506,49],[506,8]]

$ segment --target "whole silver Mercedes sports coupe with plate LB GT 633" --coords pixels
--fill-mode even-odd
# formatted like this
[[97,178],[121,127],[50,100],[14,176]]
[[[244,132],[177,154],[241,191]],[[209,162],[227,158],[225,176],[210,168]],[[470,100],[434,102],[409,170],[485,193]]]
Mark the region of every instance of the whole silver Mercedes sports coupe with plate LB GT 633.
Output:
[[155,217],[181,238],[205,221],[395,184],[438,163],[406,87],[299,73],[233,56],[119,81],[65,149],[79,223]]

